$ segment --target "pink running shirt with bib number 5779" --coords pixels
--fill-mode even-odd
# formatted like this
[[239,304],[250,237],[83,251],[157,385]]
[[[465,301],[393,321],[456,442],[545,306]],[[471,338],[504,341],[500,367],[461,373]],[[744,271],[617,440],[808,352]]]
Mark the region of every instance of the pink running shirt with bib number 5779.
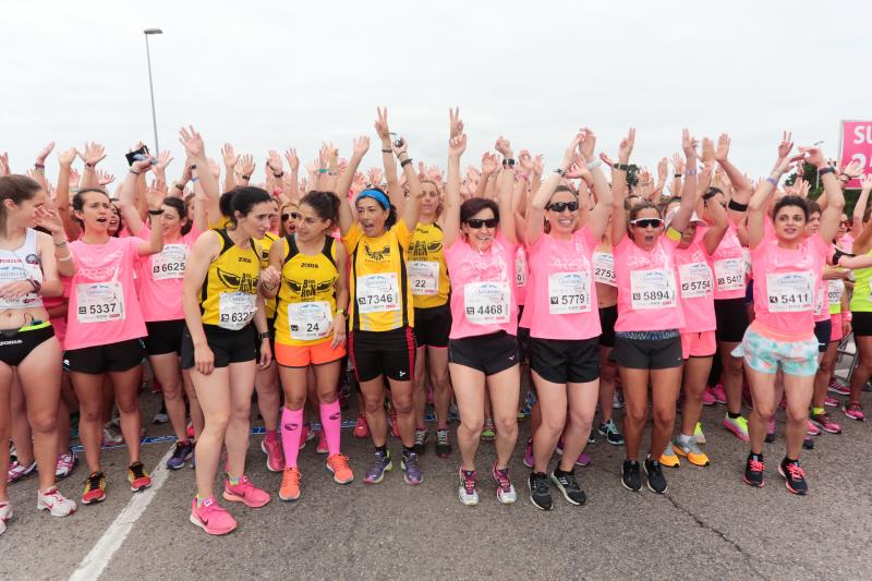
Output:
[[569,240],[543,233],[529,249],[532,290],[524,311],[533,310],[530,336],[580,340],[598,337],[600,307],[593,283],[596,240],[589,227]]

